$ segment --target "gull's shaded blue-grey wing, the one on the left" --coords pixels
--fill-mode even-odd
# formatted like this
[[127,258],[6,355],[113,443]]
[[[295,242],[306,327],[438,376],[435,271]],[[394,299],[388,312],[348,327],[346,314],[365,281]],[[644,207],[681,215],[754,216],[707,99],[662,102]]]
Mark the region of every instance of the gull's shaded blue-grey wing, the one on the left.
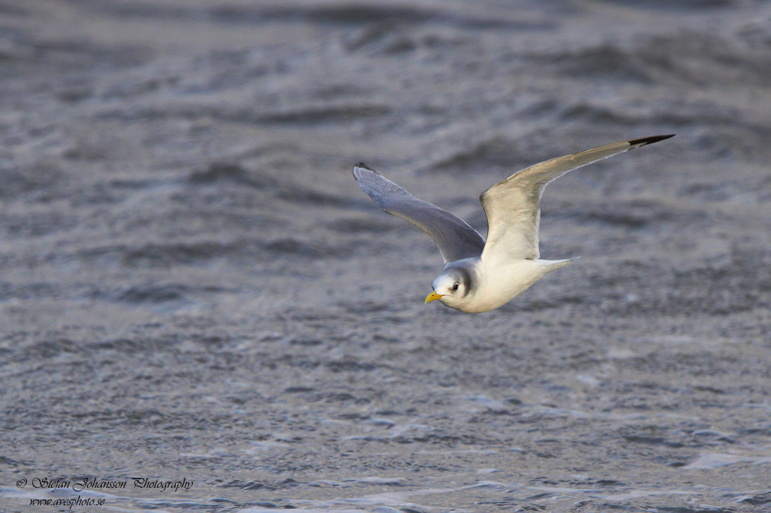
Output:
[[463,220],[423,199],[417,199],[363,163],[353,167],[353,176],[359,187],[382,210],[399,216],[428,233],[436,246],[439,246],[444,263],[479,257],[482,254],[484,239]]

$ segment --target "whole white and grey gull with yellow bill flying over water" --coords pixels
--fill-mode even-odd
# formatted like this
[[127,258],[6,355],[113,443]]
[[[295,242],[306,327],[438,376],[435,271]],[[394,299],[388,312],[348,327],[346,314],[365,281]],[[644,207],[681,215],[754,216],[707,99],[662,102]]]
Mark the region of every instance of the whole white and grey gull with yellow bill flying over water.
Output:
[[487,242],[463,220],[408,193],[364,163],[353,168],[362,190],[382,210],[418,226],[431,236],[444,259],[444,270],[433,281],[426,303],[478,314],[508,303],[566,260],[541,260],[538,250],[540,196],[565,173],[617,153],[669,139],[642,137],[530,166],[487,189],[480,202],[487,215]]

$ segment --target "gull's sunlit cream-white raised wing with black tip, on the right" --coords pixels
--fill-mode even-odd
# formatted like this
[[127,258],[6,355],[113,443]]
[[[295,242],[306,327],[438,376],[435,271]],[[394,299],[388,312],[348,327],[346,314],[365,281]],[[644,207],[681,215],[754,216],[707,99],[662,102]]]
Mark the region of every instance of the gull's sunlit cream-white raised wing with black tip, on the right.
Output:
[[522,169],[490,187],[480,196],[488,226],[487,245],[482,260],[499,262],[516,258],[537,259],[540,257],[538,203],[550,182],[573,169],[672,136],[674,134],[631,139],[561,156]]

